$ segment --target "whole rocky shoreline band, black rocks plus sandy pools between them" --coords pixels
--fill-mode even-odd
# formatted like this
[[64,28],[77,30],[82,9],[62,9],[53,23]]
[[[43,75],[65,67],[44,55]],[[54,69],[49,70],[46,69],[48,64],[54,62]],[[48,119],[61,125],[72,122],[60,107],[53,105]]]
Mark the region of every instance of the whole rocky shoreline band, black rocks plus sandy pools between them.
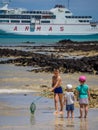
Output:
[[[98,42],[62,40],[53,46],[24,47],[25,50],[0,47],[0,57],[8,58],[0,64],[33,66],[35,72],[52,72],[59,68],[63,73],[83,72],[98,74]],[[28,51],[27,51],[28,50]]]

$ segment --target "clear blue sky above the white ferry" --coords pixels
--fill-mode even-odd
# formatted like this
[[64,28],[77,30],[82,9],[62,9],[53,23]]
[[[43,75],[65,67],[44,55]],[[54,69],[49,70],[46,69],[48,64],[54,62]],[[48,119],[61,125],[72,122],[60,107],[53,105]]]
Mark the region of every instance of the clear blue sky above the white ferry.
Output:
[[[0,0],[9,1],[9,0]],[[92,16],[98,21],[98,0],[11,0],[10,8],[25,8],[28,10],[50,10],[56,4],[65,5],[73,15]]]

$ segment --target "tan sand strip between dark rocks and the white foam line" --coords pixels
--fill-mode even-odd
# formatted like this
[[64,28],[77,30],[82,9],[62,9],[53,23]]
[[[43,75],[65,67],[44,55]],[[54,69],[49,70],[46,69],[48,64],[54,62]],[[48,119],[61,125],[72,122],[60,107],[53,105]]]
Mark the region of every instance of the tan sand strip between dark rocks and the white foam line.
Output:
[[[12,64],[0,64],[0,92],[1,89],[12,90],[36,90],[40,91],[41,86],[51,87],[52,73],[29,72],[31,67],[18,67]],[[62,77],[62,87],[71,83],[75,88],[79,85],[78,78],[80,75],[87,77],[87,84],[90,88],[98,88],[98,76],[87,73],[60,74]],[[9,92],[9,91],[8,91]]]

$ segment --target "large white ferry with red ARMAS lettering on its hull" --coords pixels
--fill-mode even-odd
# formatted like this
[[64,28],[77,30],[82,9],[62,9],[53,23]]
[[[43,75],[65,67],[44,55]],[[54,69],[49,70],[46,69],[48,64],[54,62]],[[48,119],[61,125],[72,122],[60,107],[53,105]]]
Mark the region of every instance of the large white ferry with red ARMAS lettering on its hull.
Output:
[[91,16],[74,16],[63,5],[50,10],[10,9],[9,3],[0,8],[0,34],[17,35],[94,35],[98,23]]

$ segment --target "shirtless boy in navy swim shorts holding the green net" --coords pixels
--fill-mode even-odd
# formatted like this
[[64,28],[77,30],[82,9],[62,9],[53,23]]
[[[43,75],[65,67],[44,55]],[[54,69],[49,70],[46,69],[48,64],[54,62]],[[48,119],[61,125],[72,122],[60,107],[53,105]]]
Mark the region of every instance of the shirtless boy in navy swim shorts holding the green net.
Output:
[[[60,76],[59,69],[54,69],[52,76],[52,88],[50,91],[54,92],[54,104],[55,104],[55,112],[54,114],[63,114],[63,90],[61,87],[62,79]],[[60,112],[59,112],[59,104],[60,103]]]

